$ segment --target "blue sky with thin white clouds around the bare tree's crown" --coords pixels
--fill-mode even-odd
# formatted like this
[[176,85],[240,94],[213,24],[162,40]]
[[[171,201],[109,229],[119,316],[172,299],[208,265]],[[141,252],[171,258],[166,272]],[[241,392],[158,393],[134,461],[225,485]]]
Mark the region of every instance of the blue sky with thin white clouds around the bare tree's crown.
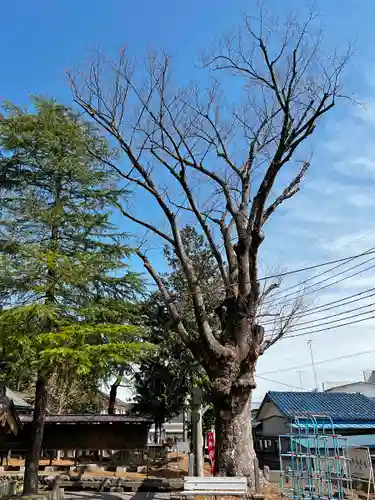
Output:
[[[188,81],[197,71],[197,54],[223,33],[237,27],[251,0],[13,0],[1,11],[3,68],[0,99],[25,104],[29,94],[44,94],[71,103],[65,71],[81,67],[91,48],[110,55],[126,44],[139,59],[150,48],[162,48],[174,59],[178,77]],[[361,105],[343,102],[324,122],[310,144],[313,161],[301,192],[269,224],[264,244],[264,271],[272,266],[294,269],[356,254],[375,246],[375,52],[373,0],[319,0],[327,50],[355,41],[348,67],[348,88]],[[270,0],[268,8],[302,13],[310,2]],[[147,207],[146,207],[147,208]],[[372,271],[324,291],[327,302],[375,286]],[[300,278],[300,276],[299,276]],[[284,286],[290,285],[289,280]],[[313,337],[317,361],[375,349],[374,324],[354,325]],[[308,337],[285,340],[259,362],[259,373],[309,363]],[[356,380],[375,368],[374,355],[317,366],[320,383]],[[310,367],[302,385],[313,386]],[[265,390],[300,385],[296,370],[259,379],[255,399]]]

